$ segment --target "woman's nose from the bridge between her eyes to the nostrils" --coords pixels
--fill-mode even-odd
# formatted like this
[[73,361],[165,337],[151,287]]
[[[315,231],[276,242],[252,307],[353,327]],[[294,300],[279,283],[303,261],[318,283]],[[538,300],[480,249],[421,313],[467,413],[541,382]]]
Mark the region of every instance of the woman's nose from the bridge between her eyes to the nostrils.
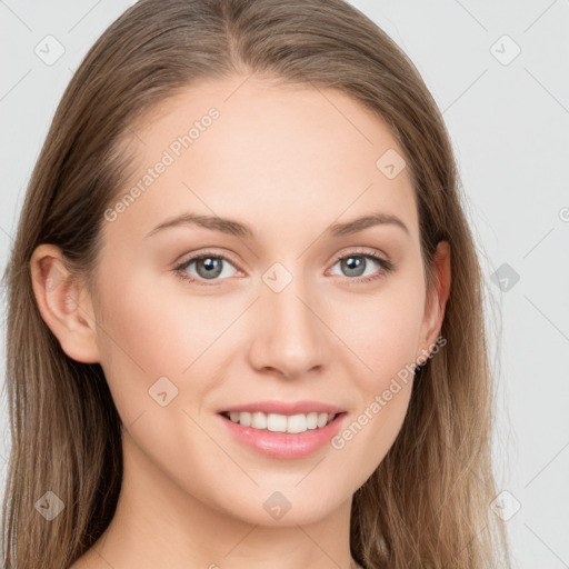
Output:
[[257,303],[257,329],[251,349],[253,365],[292,377],[325,363],[325,327],[317,297],[300,274],[274,263],[262,276]]

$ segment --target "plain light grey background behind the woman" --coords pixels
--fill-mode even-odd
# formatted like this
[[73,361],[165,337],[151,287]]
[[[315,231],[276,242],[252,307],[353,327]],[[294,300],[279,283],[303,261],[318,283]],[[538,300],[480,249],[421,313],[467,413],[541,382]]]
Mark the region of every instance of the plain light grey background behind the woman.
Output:
[[[131,3],[0,0],[2,270],[63,89],[94,40]],[[352,3],[410,56],[443,112],[499,307],[488,321],[497,373],[496,472],[508,493],[489,507],[508,518],[516,567],[569,567],[569,383],[562,358],[569,353],[569,2]],[[64,53],[44,61],[58,54],[58,42]],[[6,341],[4,327],[2,333]],[[3,343],[0,356],[3,387]],[[3,398],[0,413],[3,486]]]

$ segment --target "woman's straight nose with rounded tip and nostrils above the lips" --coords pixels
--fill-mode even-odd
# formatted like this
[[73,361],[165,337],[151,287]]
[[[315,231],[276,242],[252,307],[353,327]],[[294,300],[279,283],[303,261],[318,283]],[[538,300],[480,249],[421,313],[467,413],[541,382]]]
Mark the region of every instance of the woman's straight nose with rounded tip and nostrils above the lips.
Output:
[[[298,279],[274,292],[263,286],[254,306],[251,366],[292,379],[316,372],[327,363],[327,328],[319,315],[319,303]],[[328,332],[329,333],[329,332]]]

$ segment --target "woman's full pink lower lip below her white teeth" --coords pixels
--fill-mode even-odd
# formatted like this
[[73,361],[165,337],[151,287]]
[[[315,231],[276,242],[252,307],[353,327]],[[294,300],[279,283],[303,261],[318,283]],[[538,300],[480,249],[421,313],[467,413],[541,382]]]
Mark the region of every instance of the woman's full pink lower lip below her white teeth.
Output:
[[220,415],[221,420],[233,436],[248,446],[272,458],[303,458],[322,448],[340,430],[346,412],[339,413],[326,427],[305,432],[272,432],[252,427],[243,427]]

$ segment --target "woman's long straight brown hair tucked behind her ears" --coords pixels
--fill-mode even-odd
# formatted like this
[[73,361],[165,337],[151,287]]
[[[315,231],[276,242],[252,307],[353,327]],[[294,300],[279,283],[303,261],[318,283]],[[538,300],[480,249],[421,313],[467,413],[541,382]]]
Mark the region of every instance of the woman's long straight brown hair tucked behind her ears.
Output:
[[[446,346],[416,372],[393,446],[353,496],[352,556],[368,569],[481,569],[495,567],[500,551],[506,567],[503,522],[489,508],[497,490],[483,279],[449,136],[411,61],[342,0],[141,0],[74,73],[3,276],[12,437],[4,566],[69,567],[107,528],[122,477],[120,419],[102,368],[67,357],[42,320],[32,252],[58,246],[96,295],[103,214],[132,167],[129,129],[180,89],[237,73],[340,89],[386,120],[412,176],[429,281],[437,243],[451,246]],[[47,491],[64,505],[51,521],[34,508]]]

